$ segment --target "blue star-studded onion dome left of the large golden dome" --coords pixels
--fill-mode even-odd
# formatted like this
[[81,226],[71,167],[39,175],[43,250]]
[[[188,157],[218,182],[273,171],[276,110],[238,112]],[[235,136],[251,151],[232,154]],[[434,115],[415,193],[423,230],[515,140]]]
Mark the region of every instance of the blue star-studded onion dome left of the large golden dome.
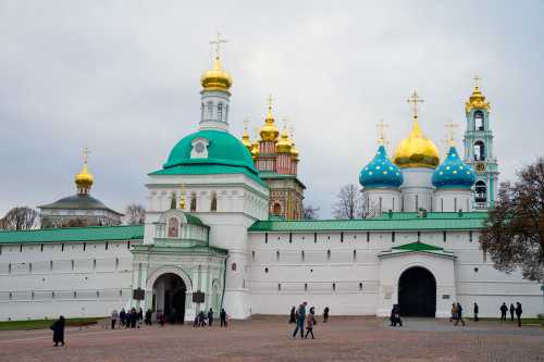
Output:
[[380,145],[374,158],[359,174],[364,188],[397,188],[403,184],[400,170],[390,160],[385,147]]

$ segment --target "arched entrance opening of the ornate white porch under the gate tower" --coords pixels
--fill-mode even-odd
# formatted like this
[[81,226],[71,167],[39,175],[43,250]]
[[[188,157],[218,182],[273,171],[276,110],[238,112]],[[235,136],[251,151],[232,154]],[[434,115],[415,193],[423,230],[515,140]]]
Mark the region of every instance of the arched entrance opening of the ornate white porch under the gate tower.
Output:
[[185,294],[183,279],[173,273],[162,274],[153,284],[153,309],[162,312],[170,322],[184,323]]

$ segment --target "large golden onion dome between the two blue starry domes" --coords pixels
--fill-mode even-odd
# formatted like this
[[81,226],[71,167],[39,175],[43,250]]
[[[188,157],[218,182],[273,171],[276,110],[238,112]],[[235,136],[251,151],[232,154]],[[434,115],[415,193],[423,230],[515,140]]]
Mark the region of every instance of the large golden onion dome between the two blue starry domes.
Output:
[[438,149],[432,140],[423,136],[418,116],[413,116],[413,127],[407,138],[398,143],[393,162],[400,168],[436,168],[440,163]]

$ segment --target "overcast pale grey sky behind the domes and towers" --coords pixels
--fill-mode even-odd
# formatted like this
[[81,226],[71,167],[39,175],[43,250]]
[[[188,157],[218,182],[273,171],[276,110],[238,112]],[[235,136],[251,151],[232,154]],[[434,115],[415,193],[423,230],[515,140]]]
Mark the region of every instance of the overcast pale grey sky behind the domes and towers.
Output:
[[392,149],[408,134],[413,89],[425,135],[440,147],[454,120],[460,146],[474,74],[511,179],[544,154],[543,15],[542,1],[0,0],[0,214],[74,194],[84,147],[95,197],[144,202],[146,174],[198,126],[218,30],[231,132],[260,126],[272,93],[322,217],[358,183],[381,118]]

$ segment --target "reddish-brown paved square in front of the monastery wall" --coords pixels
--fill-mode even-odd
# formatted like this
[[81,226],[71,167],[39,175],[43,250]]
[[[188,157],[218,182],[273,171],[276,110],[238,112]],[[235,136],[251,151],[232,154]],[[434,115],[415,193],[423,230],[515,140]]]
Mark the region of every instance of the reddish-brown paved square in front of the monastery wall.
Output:
[[316,339],[290,338],[286,317],[256,316],[228,328],[189,325],[140,329],[66,329],[53,348],[50,330],[0,333],[0,361],[544,361],[544,328],[467,321],[332,317]]

